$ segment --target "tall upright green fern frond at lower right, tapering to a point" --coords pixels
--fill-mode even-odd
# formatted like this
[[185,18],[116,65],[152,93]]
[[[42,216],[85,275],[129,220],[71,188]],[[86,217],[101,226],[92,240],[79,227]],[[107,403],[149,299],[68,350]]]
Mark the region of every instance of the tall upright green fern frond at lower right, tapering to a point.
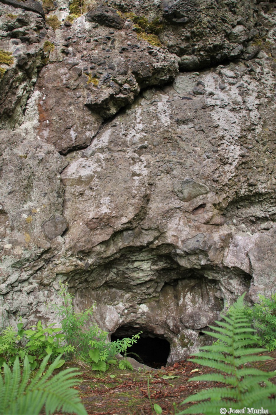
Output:
[[[221,316],[224,321],[216,321],[218,326],[210,326],[214,332],[205,332],[219,340],[216,344],[202,347],[202,352],[195,354],[196,359],[190,359],[195,363],[207,366],[222,373],[211,373],[196,376],[190,381],[214,381],[224,383],[225,387],[212,388],[200,391],[189,396],[182,404],[197,402],[180,412],[180,414],[217,415],[220,408],[255,408],[268,409],[270,415],[276,414],[276,386],[269,381],[276,376],[274,372],[263,372],[252,367],[240,366],[248,362],[269,359],[267,356],[257,356],[265,349],[256,349],[252,346],[254,330],[243,307],[243,294],[230,308],[226,316]],[[251,347],[250,347],[251,346]],[[260,384],[261,383],[261,384]],[[261,386],[262,385],[262,386]],[[228,410],[228,409],[227,409]]]

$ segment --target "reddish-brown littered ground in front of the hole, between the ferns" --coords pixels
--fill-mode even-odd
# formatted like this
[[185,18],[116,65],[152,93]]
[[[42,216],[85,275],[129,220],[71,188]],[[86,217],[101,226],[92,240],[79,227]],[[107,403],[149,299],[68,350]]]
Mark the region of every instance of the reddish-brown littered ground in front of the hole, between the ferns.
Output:
[[[254,366],[275,371],[276,351],[266,355],[273,360],[257,362]],[[106,373],[87,368],[80,370],[77,389],[89,415],[151,415],[155,414],[151,408],[155,403],[161,406],[162,415],[173,415],[187,408],[188,404],[180,405],[187,396],[202,389],[223,386],[214,382],[189,382],[192,377],[210,373],[213,369],[187,360],[147,371],[122,371],[115,365]],[[276,383],[276,377],[273,381]]]

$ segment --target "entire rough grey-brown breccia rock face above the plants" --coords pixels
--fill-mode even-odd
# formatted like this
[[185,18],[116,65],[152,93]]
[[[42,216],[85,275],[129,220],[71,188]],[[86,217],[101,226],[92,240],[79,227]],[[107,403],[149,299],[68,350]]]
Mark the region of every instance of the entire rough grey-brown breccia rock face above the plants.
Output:
[[22,4],[0,0],[2,324],[55,321],[68,283],[182,359],[276,288],[275,3]]

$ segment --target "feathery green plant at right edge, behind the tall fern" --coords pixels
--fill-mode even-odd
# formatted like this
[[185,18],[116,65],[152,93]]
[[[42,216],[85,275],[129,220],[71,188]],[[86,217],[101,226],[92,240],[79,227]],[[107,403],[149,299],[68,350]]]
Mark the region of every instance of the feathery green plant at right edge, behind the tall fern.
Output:
[[271,298],[259,295],[259,303],[246,308],[253,327],[257,330],[256,344],[264,346],[270,352],[276,349],[276,294]]

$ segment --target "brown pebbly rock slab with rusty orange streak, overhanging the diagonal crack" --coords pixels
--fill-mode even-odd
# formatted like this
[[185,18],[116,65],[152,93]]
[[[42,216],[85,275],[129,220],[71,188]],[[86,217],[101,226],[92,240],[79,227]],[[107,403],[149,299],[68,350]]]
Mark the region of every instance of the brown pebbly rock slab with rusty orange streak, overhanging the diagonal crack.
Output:
[[176,56],[163,49],[152,56],[154,48],[137,42],[131,29],[107,34],[80,19],[64,27],[66,50],[54,46],[49,59],[57,62],[43,68],[35,88],[38,134],[62,154],[88,146],[103,118],[132,103],[141,88],[173,81],[178,72]]

